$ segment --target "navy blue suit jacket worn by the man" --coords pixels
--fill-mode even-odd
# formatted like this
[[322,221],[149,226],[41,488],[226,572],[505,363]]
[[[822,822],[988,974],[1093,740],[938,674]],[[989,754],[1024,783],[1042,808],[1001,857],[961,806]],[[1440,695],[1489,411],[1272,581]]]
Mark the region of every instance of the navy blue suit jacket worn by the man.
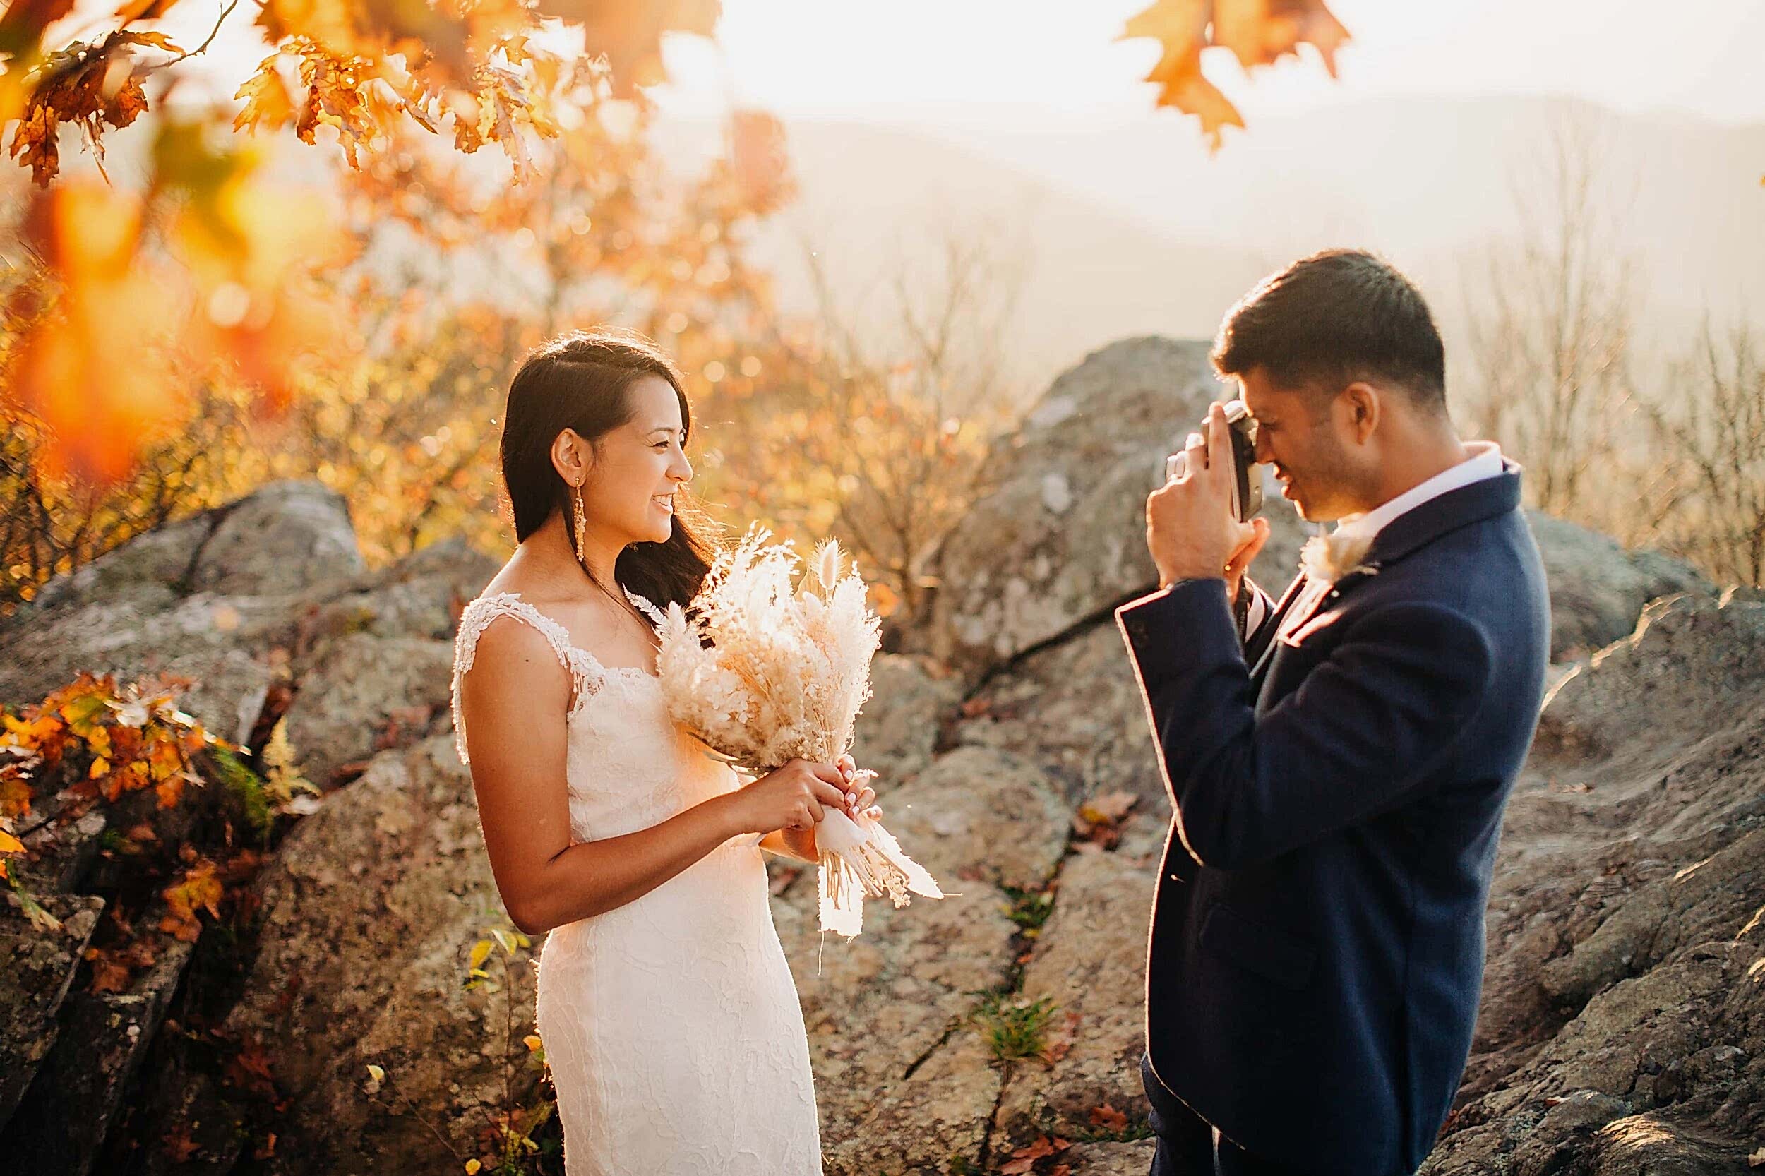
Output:
[[1470,1054],[1550,600],[1513,464],[1393,519],[1363,563],[1327,592],[1301,576],[1248,648],[1221,579],[1115,616],[1175,807],[1153,1068],[1257,1155],[1394,1176]]

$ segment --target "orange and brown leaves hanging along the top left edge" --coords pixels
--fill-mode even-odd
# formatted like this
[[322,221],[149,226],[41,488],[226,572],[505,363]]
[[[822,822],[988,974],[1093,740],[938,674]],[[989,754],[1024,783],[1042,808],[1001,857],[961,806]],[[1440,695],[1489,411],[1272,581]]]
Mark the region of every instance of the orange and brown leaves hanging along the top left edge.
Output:
[[[19,0],[0,16],[0,124],[19,122],[12,157],[39,184],[60,166],[58,124],[81,125],[102,159],[104,129],[146,109],[138,49],[176,55],[152,69],[191,57],[164,34],[131,28],[173,2],[127,0],[111,32],[49,55],[42,34],[71,0]],[[328,127],[360,166],[362,148],[387,139],[404,117],[431,132],[452,118],[459,150],[501,143],[524,175],[526,139],[558,132],[549,95],[565,62],[540,46],[547,18],[581,28],[582,58],[602,64],[630,97],[665,78],[664,34],[710,35],[718,14],[718,0],[259,0],[256,25],[275,53],[240,85],[235,129],[291,125],[314,143]]]

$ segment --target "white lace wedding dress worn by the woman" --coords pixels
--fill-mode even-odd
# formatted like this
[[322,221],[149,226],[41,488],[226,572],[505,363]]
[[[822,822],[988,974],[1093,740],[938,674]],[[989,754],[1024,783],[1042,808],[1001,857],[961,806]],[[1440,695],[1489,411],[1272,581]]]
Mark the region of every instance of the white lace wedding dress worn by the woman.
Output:
[[[545,634],[574,682],[574,841],[650,828],[738,786],[669,720],[653,675],[604,667],[508,592],[478,597],[459,620],[461,761],[459,683],[478,636],[503,616]],[[757,841],[727,841],[635,902],[545,938],[538,1033],[570,1176],[819,1176],[808,1040]]]

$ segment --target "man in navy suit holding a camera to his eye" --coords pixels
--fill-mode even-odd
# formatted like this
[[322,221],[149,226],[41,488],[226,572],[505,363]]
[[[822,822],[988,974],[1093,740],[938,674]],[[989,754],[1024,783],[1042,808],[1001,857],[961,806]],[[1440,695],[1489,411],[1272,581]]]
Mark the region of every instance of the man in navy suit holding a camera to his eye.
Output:
[[1153,1176],[1407,1174],[1470,1052],[1543,697],[1520,470],[1460,441],[1428,305],[1366,253],[1266,279],[1213,360],[1283,496],[1338,526],[1280,602],[1243,581],[1269,528],[1230,512],[1220,404],[1145,503],[1160,588],[1115,616],[1175,805],[1140,1063]]

